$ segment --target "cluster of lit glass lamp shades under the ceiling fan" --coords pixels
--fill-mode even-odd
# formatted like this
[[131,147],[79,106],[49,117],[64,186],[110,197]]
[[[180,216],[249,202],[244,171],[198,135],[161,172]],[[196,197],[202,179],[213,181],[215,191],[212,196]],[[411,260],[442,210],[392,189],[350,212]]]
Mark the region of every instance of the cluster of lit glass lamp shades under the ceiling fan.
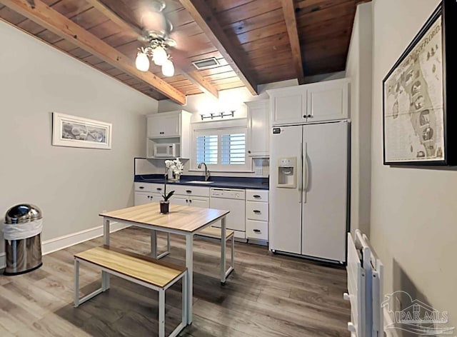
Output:
[[156,66],[162,67],[162,74],[167,77],[174,75],[174,64],[166,52],[166,44],[161,39],[151,39],[149,46],[139,48],[136,55],[135,66],[139,71],[149,71],[149,59]]

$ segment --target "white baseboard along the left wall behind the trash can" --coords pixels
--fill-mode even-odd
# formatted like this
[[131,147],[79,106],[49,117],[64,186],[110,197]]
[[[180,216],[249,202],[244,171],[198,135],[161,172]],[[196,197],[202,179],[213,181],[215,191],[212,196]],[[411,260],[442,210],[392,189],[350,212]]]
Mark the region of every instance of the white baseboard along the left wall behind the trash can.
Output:
[[[121,229],[127,228],[129,225],[124,223],[112,222],[110,226],[110,232],[120,231]],[[43,255],[53,253],[54,251],[60,251],[61,249],[74,246],[78,243],[89,241],[93,238],[99,238],[103,236],[103,226],[97,226],[94,228],[85,229],[76,233],[71,233],[59,238],[51,238],[41,243],[41,252]],[[6,253],[0,253],[0,269],[6,267]]]

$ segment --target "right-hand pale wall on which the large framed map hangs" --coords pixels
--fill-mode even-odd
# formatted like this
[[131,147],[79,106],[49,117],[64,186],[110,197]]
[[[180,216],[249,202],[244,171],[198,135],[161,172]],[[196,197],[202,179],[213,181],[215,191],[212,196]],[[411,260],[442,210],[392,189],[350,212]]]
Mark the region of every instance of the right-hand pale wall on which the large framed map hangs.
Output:
[[438,3],[373,2],[371,241],[386,266],[385,293],[408,291],[457,326],[457,172],[383,166],[382,152],[383,77]]

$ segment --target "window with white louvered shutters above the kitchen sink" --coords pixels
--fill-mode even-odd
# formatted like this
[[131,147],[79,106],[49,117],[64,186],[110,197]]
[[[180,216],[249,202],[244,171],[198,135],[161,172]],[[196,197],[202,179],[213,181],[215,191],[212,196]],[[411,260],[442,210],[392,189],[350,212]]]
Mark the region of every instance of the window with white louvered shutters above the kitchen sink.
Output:
[[246,127],[194,130],[193,168],[204,162],[214,171],[249,171]]

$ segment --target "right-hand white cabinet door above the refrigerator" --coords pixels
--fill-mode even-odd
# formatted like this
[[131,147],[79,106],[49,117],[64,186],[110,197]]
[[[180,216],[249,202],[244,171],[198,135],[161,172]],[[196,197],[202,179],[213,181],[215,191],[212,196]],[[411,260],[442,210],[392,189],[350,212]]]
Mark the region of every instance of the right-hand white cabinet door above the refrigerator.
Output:
[[348,86],[347,79],[309,85],[308,121],[347,119]]

